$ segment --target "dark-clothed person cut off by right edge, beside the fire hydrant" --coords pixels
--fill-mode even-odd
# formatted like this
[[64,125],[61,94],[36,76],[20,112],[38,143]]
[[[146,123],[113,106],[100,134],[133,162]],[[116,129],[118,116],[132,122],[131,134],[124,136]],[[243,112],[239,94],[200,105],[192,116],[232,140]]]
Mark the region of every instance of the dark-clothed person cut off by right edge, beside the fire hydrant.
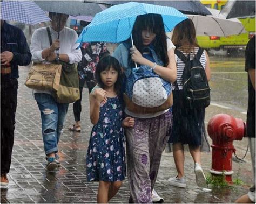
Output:
[[248,72],[248,109],[246,130],[251,153],[254,186],[246,195],[235,202],[255,202],[255,36],[248,42],[245,50],[245,71]]

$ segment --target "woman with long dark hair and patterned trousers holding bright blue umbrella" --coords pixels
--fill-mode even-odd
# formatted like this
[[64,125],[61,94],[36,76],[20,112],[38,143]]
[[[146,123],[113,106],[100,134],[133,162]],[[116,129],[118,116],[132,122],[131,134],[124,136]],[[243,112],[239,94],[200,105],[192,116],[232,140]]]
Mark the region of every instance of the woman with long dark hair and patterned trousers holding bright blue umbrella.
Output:
[[[132,29],[132,36],[136,47],[130,48],[131,42],[127,40],[113,53],[125,72],[134,67],[135,62],[152,68],[160,78],[174,82],[177,75],[175,46],[170,39],[166,39],[161,15],[138,16]],[[158,63],[153,58],[157,59]],[[162,111],[147,113],[144,109],[145,112],[138,113],[136,109],[127,109],[129,103],[126,101],[125,113],[135,118],[134,128],[125,130],[131,192],[129,201],[152,202],[151,192],[157,178],[161,154],[167,143],[166,133],[172,124],[172,113],[169,111],[170,106]]]

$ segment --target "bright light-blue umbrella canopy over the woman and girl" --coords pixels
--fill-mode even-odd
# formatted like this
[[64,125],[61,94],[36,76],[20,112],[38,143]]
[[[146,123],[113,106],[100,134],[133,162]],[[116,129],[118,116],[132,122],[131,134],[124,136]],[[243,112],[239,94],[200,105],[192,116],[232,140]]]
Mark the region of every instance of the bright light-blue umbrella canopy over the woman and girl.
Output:
[[80,34],[78,42],[120,43],[131,36],[131,30],[137,16],[149,13],[160,14],[163,17],[166,32],[170,32],[174,26],[187,19],[177,9],[166,6],[137,2],[114,5],[97,13],[91,24],[87,25]]

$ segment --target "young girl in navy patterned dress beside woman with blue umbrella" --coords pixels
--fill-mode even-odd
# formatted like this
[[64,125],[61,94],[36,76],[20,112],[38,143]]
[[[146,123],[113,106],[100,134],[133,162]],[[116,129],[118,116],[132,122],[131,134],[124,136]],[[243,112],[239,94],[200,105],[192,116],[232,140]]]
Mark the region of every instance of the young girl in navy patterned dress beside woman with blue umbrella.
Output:
[[111,56],[102,58],[96,67],[98,85],[90,94],[90,119],[94,124],[87,150],[87,181],[99,181],[98,203],[107,203],[125,178],[124,132],[134,119],[123,120],[119,62]]

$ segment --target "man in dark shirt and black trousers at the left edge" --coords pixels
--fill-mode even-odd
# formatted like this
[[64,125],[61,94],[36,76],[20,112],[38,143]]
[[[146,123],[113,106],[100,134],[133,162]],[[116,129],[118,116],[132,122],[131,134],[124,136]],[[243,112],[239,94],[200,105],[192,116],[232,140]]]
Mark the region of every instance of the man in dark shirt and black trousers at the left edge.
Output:
[[1,185],[8,185],[14,146],[18,65],[29,65],[31,53],[24,33],[1,20]]

